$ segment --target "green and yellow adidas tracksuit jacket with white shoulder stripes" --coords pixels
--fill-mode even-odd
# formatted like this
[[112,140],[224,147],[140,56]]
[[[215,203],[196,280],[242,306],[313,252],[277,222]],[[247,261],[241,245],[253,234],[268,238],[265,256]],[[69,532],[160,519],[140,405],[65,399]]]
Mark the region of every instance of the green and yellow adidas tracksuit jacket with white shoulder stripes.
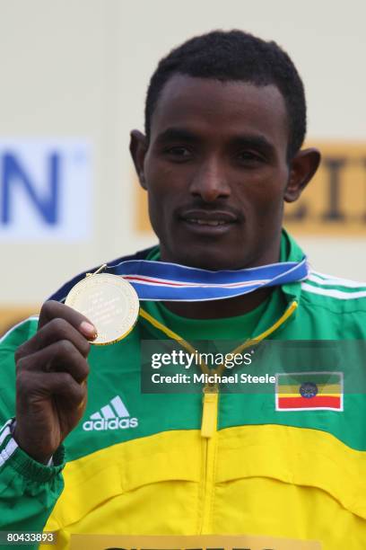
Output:
[[[138,257],[151,258],[156,250]],[[302,255],[283,233],[282,261]],[[293,377],[260,395],[142,394],[141,342],[176,337],[179,326],[186,340],[192,333],[206,338],[205,321],[192,321],[190,333],[188,324],[144,303],[125,340],[92,348],[87,409],[53,466],[28,457],[7,423],[14,416],[14,350],[36,332],[37,318],[4,335],[0,530],[41,531],[46,525],[57,532],[57,548],[69,547],[77,533],[247,533],[318,540],[325,550],[366,547],[362,390],[346,393],[335,377],[333,392],[342,406],[309,410],[299,406],[303,395],[296,395]],[[231,324],[237,340],[240,318],[222,320],[224,338]],[[213,337],[220,334],[216,323]],[[274,291],[248,336],[362,342],[366,285],[311,271],[309,279]],[[362,365],[344,358],[342,368],[347,377]],[[308,371],[318,372],[319,365],[309,364]],[[281,401],[284,386],[288,395]],[[283,410],[292,398],[293,407]]]

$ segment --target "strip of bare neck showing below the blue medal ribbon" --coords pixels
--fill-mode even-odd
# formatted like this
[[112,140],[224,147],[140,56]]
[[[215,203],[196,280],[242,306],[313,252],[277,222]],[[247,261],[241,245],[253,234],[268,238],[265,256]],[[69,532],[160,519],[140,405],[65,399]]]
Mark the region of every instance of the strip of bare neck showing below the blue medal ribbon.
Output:
[[181,317],[191,319],[220,319],[244,315],[256,309],[274,288],[259,288],[243,296],[207,302],[163,302],[164,306]]

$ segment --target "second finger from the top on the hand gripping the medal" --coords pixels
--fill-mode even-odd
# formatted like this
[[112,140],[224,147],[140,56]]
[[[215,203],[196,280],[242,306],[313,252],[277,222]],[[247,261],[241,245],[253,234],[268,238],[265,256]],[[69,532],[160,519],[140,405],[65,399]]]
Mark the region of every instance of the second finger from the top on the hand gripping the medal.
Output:
[[16,350],[15,359],[19,361],[23,357],[42,350],[55,342],[68,340],[74,344],[74,347],[80,351],[83,357],[87,357],[91,344],[86,338],[77,331],[73,325],[69,324],[65,319],[57,317],[52,319],[48,324],[42,326],[39,332],[36,333],[30,340],[24,342],[22,346]]

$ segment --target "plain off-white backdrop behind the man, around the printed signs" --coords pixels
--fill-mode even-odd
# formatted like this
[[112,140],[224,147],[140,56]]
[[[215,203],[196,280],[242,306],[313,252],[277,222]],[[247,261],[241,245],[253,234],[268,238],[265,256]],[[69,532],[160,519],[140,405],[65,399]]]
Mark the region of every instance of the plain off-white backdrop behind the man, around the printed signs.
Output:
[[[158,60],[197,33],[240,28],[276,40],[305,82],[308,141],[366,141],[365,6],[363,0],[0,0],[0,139],[73,137],[93,150],[90,236],[2,240],[0,304],[41,302],[74,273],[153,242],[134,232],[128,132],[143,129],[144,95]],[[366,279],[365,239],[300,241],[319,271]]]

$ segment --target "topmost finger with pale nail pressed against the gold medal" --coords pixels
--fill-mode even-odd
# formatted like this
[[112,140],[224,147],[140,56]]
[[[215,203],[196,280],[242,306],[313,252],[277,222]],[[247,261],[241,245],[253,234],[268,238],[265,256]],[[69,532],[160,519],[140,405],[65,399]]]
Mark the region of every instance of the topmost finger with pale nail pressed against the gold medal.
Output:
[[48,302],[43,304],[39,314],[39,329],[57,317],[65,319],[69,324],[72,324],[86,338],[90,340],[95,339],[97,330],[89,319],[72,307],[65,306],[65,304],[61,304],[61,302],[56,302],[55,300],[48,300]]

